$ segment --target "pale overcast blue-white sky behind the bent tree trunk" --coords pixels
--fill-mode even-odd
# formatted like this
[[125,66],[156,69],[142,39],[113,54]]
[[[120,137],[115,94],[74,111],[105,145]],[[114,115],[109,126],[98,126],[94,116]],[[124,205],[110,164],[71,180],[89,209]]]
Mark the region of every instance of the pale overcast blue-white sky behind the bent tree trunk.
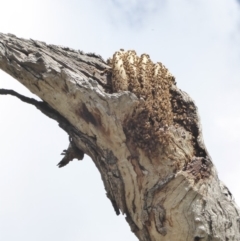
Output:
[[[240,1],[8,0],[0,32],[96,52],[135,49],[161,61],[195,100],[207,149],[240,205]],[[0,71],[0,88],[33,96]],[[0,96],[0,240],[136,241],[90,158],[62,169],[57,123]]]

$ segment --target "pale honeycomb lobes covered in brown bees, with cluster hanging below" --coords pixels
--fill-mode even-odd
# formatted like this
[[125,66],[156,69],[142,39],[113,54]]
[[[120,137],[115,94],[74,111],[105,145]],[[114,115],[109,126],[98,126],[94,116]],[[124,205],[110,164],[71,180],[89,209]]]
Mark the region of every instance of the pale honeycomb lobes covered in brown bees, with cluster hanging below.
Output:
[[148,154],[154,154],[157,145],[168,142],[168,127],[173,124],[170,87],[174,77],[160,62],[154,64],[149,55],[137,56],[133,50],[120,50],[109,60],[112,68],[113,92],[129,90],[140,101],[124,130],[128,138]]

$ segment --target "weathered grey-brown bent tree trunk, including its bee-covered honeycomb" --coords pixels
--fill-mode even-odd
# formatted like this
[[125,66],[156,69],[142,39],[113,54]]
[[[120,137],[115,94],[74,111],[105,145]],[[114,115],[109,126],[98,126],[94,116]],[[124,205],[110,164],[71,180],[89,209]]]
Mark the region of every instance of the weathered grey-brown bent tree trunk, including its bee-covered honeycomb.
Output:
[[98,55],[0,34],[0,68],[69,134],[59,167],[89,155],[141,241],[240,240],[240,211],[205,148],[197,108],[148,55]]

